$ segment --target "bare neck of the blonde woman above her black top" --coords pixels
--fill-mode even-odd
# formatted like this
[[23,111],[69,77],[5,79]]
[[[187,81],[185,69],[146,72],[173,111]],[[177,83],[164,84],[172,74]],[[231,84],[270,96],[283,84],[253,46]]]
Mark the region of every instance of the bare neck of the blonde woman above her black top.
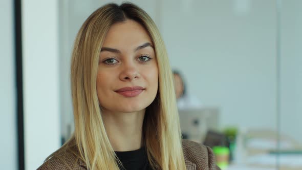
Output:
[[107,136],[114,151],[134,151],[143,146],[145,110],[133,113],[102,111]]

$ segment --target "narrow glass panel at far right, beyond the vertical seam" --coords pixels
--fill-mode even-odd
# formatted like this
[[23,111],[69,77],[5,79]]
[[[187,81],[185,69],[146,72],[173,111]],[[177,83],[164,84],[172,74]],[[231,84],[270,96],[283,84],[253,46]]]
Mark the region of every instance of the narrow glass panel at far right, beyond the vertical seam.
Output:
[[278,1],[278,167],[302,168],[302,2]]

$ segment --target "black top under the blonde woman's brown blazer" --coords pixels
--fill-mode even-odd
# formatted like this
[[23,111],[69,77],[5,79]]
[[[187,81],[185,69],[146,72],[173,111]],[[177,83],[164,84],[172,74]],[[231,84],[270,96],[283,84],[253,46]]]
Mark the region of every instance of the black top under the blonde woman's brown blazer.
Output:
[[118,159],[122,162],[126,170],[149,170],[150,165],[148,163],[147,153],[144,147],[135,151],[115,152]]

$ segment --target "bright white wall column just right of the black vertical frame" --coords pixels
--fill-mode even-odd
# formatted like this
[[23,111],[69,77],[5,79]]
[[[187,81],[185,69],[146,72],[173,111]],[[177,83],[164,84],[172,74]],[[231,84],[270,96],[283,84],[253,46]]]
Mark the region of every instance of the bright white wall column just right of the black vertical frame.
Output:
[[58,1],[22,1],[25,169],[60,146]]

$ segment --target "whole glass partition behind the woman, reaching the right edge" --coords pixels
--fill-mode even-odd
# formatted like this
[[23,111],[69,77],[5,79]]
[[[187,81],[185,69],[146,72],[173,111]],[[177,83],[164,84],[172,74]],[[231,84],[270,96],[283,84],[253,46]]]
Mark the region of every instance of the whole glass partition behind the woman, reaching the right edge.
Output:
[[[63,141],[73,132],[73,40],[109,2],[60,1]],[[155,20],[185,83],[178,99],[184,138],[210,145],[217,157],[226,151],[223,169],[302,168],[301,1],[130,2]]]

